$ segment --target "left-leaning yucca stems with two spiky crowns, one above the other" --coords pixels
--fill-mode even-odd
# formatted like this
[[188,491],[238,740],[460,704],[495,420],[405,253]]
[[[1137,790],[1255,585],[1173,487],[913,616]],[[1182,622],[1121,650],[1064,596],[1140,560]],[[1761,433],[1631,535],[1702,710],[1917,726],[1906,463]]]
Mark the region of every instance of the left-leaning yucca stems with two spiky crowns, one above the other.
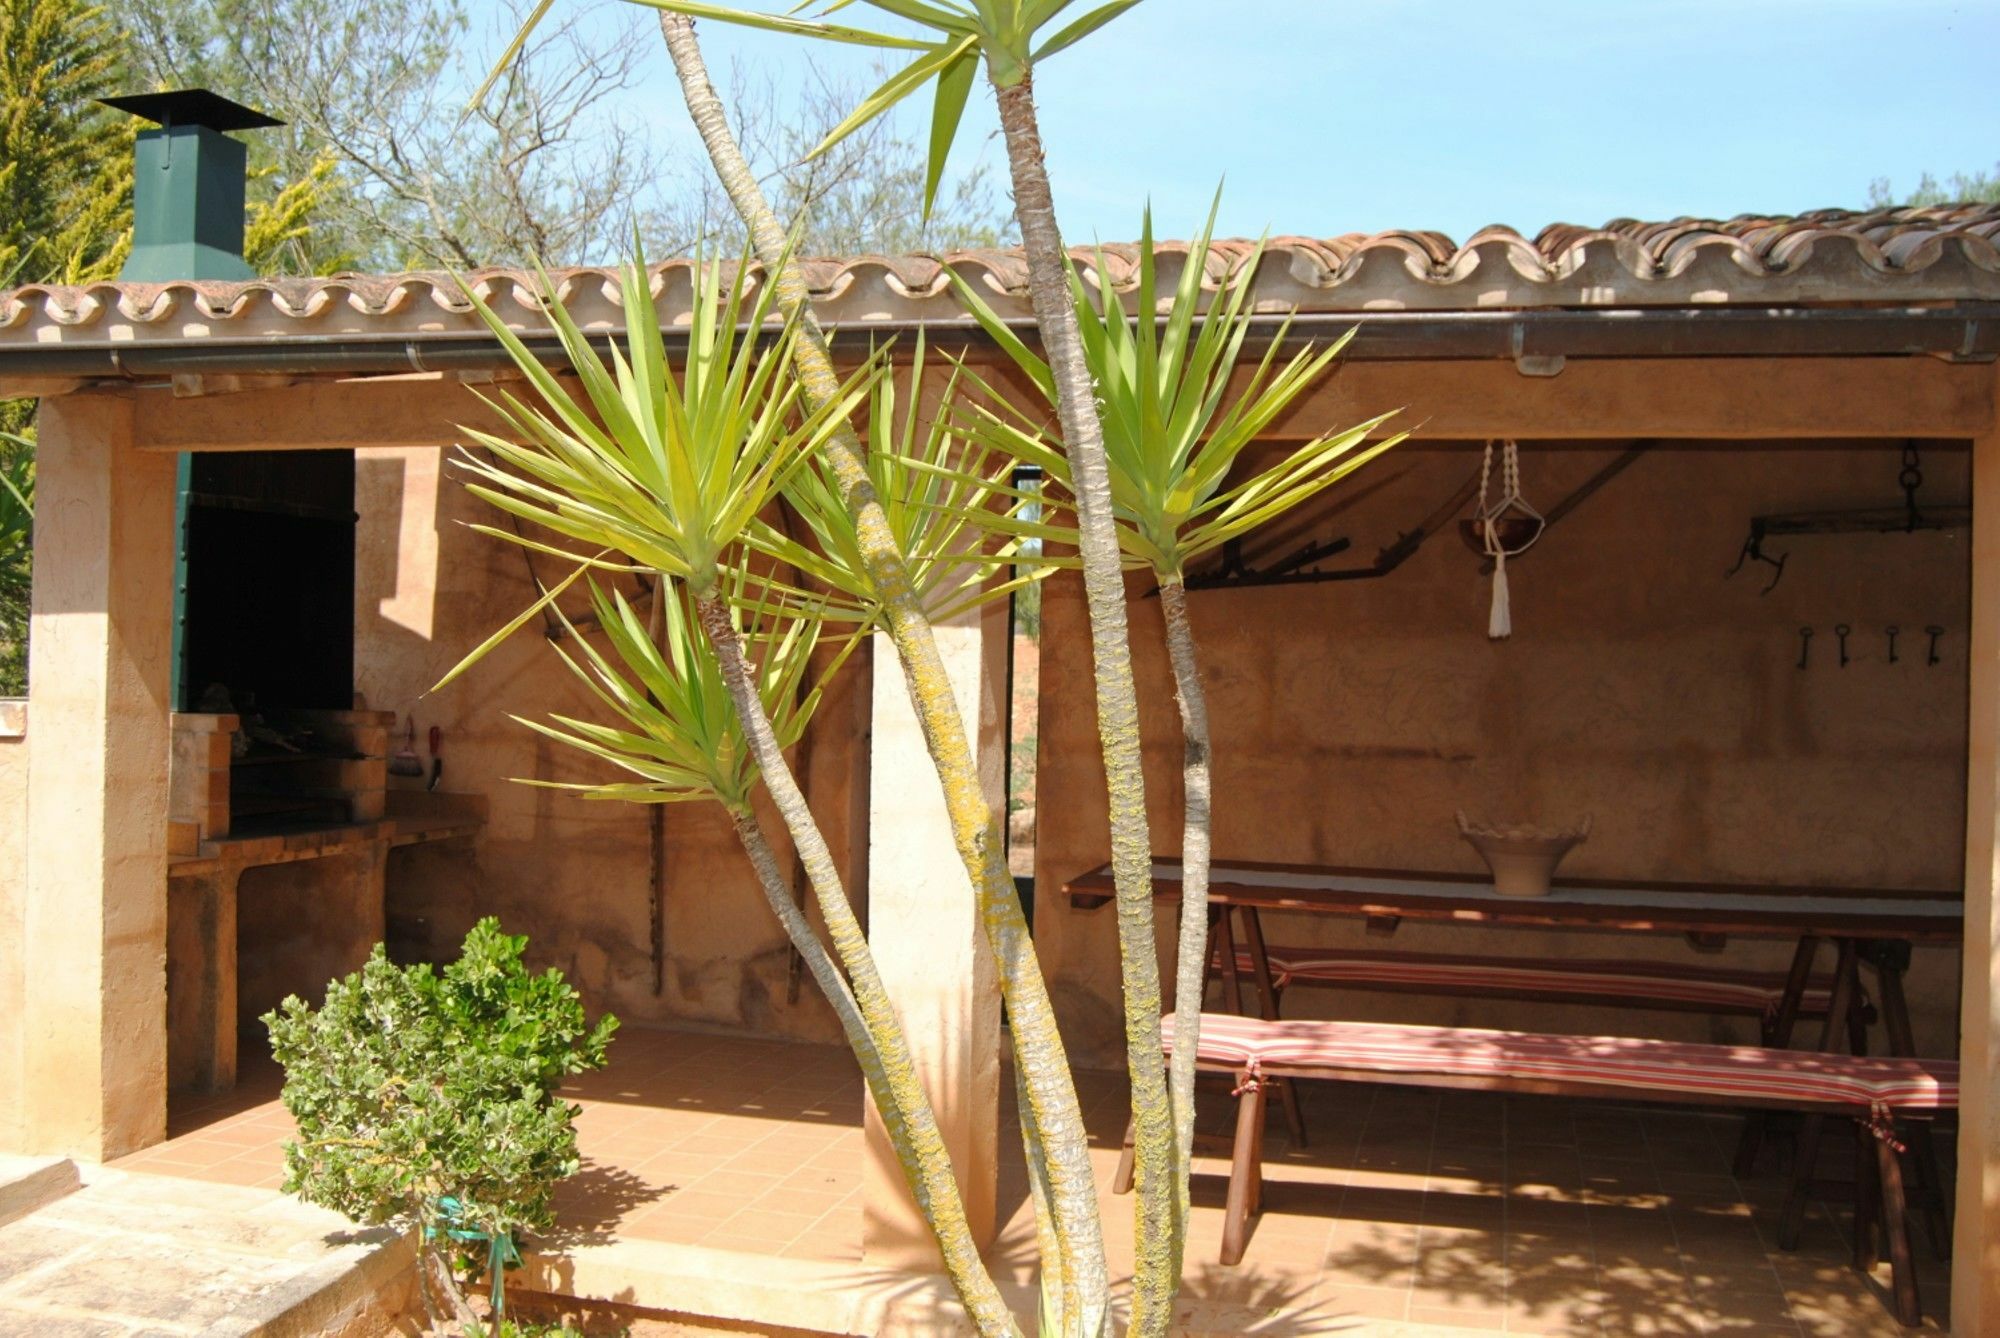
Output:
[[[812,696],[800,698],[796,688],[820,640],[824,604],[774,594],[768,578],[752,578],[752,554],[742,542],[756,516],[776,506],[784,486],[846,426],[880,364],[864,366],[836,394],[802,404],[792,374],[798,320],[770,320],[772,286],[752,284],[750,272],[742,262],[724,284],[716,266],[694,266],[694,320],[678,372],[658,322],[638,318],[652,312],[642,262],[624,270],[620,296],[634,318],[622,346],[608,340],[606,354],[576,326],[544,276],[544,310],[580,396],[468,290],[534,392],[490,400],[508,432],[466,428],[490,452],[490,458],[464,456],[468,486],[500,510],[580,544],[582,552],[482,526],[502,540],[560,554],[574,570],[444,682],[538,610],[556,608],[564,588],[586,574],[622,570],[654,582],[656,634],[628,600],[598,588],[594,602],[608,650],[576,638],[582,650],[568,656],[622,724],[558,718],[542,728],[638,776],[616,782],[610,794],[618,798],[714,798],[728,808],[772,912],[854,1044],[954,1286],[984,1330],[1008,1332],[1012,1316],[980,1262],[908,1038],[784,756],[786,742],[798,738],[810,716]],[[770,326],[776,332],[760,340]],[[748,802],[748,768],[786,824],[838,966],[790,900]]]

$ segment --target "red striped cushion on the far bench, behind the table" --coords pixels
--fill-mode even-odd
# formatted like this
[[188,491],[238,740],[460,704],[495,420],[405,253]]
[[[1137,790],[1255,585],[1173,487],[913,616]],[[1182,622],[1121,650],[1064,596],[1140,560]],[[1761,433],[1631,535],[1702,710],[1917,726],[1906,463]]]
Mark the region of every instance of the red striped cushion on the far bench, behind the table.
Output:
[[[1340,984],[1350,988],[1420,988],[1440,994],[1576,994],[1654,1000],[1710,1012],[1770,1014],[1784,996],[1784,972],[1728,970],[1682,962],[1558,960],[1506,962],[1442,952],[1366,952],[1340,948],[1270,948],[1276,984]],[[1238,970],[1254,970],[1246,948]],[[1824,1016],[1832,984],[1806,986],[1800,1012]]]

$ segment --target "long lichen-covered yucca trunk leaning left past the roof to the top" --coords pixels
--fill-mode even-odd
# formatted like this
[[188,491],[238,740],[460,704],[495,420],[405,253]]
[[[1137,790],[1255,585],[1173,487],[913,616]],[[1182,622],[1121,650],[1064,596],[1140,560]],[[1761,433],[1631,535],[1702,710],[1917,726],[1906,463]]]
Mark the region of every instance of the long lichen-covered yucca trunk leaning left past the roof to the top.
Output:
[[[826,338],[812,318],[806,282],[788,262],[784,224],[756,184],[750,164],[728,128],[722,102],[708,82],[692,20],[660,14],[660,32],[680,74],[682,94],[696,130],[708,148],[716,176],[750,230],[758,258],[778,288],[786,316],[800,320],[798,376],[806,402],[814,408],[838,396]],[[992,948],[1000,990],[1008,1006],[1014,1062],[1028,1100],[1020,1108],[1022,1138],[1030,1160],[1046,1168],[1048,1214],[1062,1246],[1062,1298],[1066,1322],[1096,1334],[1110,1314],[1110,1280],[1104,1264],[1104,1230],[1098,1220],[1096,1178],[1084,1134],[1076,1080],[1070,1074],[1048,984],[1028,938],[1028,922],[1006,868],[1000,824],[980,788],[972,746],[966,738],[958,700],[952,696],[944,660],[938,656],[930,620],[924,616],[904,566],[888,516],[868,480],[866,456],[852,428],[842,428],[826,448],[842,500],[854,514],[868,576],[882,598],[884,622],[902,658],[918,726],[938,768],[952,840],[980,900],[980,922]]]

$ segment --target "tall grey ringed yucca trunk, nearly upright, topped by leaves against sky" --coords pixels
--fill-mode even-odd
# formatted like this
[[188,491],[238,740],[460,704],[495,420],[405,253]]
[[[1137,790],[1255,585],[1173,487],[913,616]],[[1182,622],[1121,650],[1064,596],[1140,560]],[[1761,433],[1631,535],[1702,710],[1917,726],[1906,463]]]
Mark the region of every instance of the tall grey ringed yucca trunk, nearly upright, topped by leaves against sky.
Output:
[[1146,772],[1140,762],[1138,690],[1126,628],[1124,558],[1112,516],[1110,464],[1090,366],[1076,328],[1064,270],[1056,202],[1042,160],[1032,76],[994,86],[1014,178],[1014,218],[1028,252],[1028,294],[1042,330],[1042,354],[1056,380],[1056,416],[1076,492],[1090,658],[1096,670],[1098,740],[1110,798],[1112,880],[1118,898],[1118,958],[1124,972],[1126,1066],[1132,1074],[1134,1186],[1138,1230],[1132,1260],[1132,1332],[1164,1334],[1180,1290],[1186,1180],[1176,1170],[1174,1112],[1160,1050],[1160,962],[1154,946],[1152,840],[1146,830]]

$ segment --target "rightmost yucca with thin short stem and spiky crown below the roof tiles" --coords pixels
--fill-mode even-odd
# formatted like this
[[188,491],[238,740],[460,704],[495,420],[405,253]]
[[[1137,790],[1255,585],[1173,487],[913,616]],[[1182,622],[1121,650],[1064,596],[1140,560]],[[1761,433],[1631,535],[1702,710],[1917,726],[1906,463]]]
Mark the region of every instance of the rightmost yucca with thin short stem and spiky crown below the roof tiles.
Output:
[[[1202,232],[1188,244],[1178,282],[1162,294],[1152,210],[1146,212],[1130,312],[1110,288],[1102,252],[1096,264],[1102,300],[1092,300],[1082,274],[1074,264],[1068,266],[1070,300],[1104,422],[1118,542],[1126,566],[1150,570],[1160,584],[1160,612],[1180,706],[1184,812],[1174,978],[1174,1036],[1180,1042],[1172,1058],[1170,1092],[1182,1164],[1194,1148],[1194,1056],[1208,972],[1212,850],[1208,698],[1188,618],[1186,570],[1202,554],[1306,502],[1402,440],[1402,434],[1368,440],[1390,418],[1382,414],[1316,436],[1264,468],[1248,474],[1238,468],[1264,430],[1332,366],[1350,334],[1280,360],[1290,330],[1286,316],[1268,332],[1264,356],[1246,364],[1244,346],[1254,316],[1250,286],[1264,246],[1250,252],[1236,282],[1204,294],[1214,222],[1216,210],[1210,208]],[[1048,362],[970,284],[956,274],[952,282],[960,302],[1052,408],[1056,382]],[[1246,366],[1248,378],[1232,392],[1232,380]],[[970,436],[1040,466],[1060,488],[1074,486],[1070,458],[1044,432],[1046,416],[1026,414],[990,390],[984,400],[972,402],[970,412]]]

